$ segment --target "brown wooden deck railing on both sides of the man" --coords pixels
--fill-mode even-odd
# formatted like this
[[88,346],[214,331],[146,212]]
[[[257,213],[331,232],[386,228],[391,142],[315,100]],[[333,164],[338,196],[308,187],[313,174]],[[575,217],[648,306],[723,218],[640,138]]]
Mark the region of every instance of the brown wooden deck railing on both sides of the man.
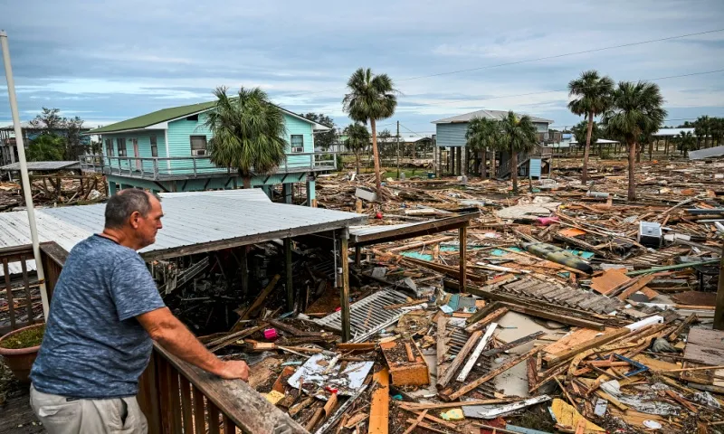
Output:
[[[48,299],[68,252],[55,242],[41,244]],[[39,282],[28,262],[33,247],[0,249],[0,334],[43,322]],[[5,292],[5,294],[3,294]],[[138,403],[150,434],[306,433],[247,383],[222,380],[186,363],[154,344],[148,368],[138,381]]]

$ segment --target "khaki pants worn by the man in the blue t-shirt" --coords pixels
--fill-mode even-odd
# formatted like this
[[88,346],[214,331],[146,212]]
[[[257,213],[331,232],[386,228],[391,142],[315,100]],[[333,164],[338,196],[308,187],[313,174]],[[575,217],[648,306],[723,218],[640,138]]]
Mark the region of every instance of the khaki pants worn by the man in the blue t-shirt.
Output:
[[148,423],[136,397],[110,400],[71,400],[36,391],[30,386],[30,405],[49,434],[146,434]]

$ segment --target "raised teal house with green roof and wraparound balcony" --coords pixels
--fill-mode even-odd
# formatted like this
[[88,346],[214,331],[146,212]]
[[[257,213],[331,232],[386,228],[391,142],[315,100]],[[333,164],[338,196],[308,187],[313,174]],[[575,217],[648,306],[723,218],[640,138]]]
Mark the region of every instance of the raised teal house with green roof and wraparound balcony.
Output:
[[[231,167],[214,165],[206,146],[214,137],[205,117],[215,102],[162,109],[106,127],[90,130],[100,135],[103,153],[81,156],[81,169],[106,175],[109,194],[123,188],[151,192],[197,192],[243,187],[243,179]],[[305,183],[306,203],[316,206],[315,175],[335,170],[333,156],[314,152],[314,135],[329,130],[316,122],[282,109],[286,127],[287,158],[273,174],[257,174],[252,187],[271,189],[281,185],[284,201],[291,203],[292,185]]]

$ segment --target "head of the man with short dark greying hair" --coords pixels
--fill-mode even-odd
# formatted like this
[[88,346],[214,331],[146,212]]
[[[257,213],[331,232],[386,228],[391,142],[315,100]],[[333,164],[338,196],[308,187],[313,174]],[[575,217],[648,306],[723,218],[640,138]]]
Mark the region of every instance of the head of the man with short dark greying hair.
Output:
[[156,242],[163,226],[161,201],[143,190],[122,190],[106,203],[106,231],[122,237],[122,244],[139,250]]

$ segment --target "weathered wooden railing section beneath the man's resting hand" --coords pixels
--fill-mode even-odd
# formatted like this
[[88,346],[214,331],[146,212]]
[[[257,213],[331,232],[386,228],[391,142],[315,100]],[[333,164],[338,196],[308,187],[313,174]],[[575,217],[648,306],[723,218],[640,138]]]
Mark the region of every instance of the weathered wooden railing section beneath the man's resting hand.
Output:
[[157,344],[139,382],[138,403],[150,434],[307,432],[246,382],[206,373]]

